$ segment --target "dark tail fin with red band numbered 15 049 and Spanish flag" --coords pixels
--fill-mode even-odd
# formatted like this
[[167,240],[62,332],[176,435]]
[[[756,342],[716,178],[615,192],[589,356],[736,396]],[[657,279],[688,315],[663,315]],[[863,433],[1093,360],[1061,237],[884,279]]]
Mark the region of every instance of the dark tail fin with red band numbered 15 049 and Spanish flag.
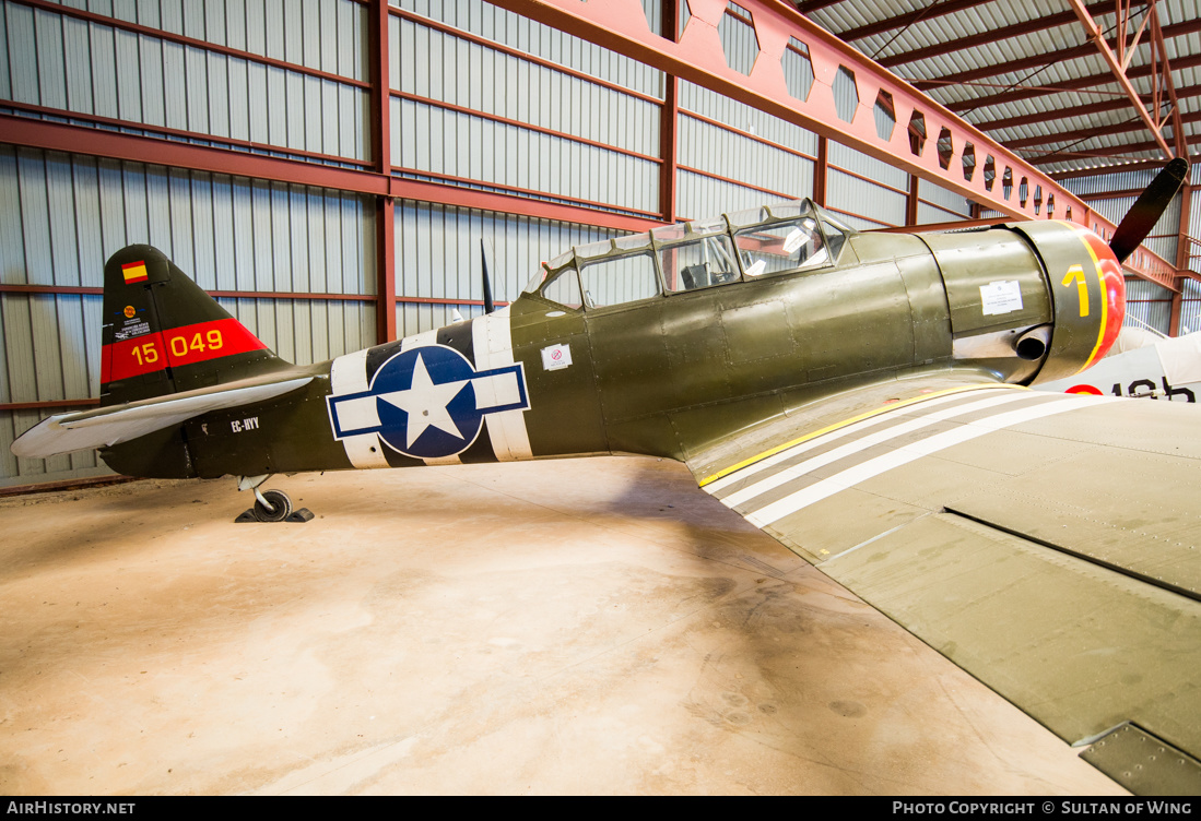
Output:
[[104,265],[101,406],[191,391],[289,367],[149,245]]

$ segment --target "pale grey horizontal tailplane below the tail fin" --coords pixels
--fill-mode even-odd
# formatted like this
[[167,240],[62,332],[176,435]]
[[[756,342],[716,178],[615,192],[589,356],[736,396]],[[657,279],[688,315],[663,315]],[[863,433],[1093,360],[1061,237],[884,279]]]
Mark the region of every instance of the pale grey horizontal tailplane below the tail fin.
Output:
[[283,372],[96,410],[60,413],[22,433],[10,450],[17,456],[46,459],[73,450],[103,448],[178,425],[209,410],[275,398],[310,382],[311,376]]

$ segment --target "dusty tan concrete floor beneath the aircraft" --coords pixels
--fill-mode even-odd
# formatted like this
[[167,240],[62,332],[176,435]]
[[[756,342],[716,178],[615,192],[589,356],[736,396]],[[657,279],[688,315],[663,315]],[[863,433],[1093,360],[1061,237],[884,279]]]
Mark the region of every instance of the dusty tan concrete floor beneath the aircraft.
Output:
[[641,459],[0,501],[0,792],[1121,793]]

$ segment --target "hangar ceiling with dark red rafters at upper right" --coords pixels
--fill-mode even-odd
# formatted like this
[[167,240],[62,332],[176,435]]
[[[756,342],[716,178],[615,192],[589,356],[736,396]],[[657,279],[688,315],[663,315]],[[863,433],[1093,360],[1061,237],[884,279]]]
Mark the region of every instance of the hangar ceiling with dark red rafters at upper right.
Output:
[[[1195,0],[795,5],[1052,176],[1158,166],[1165,148],[1197,155],[1201,18]],[[1091,29],[1104,36],[1118,71]],[[1161,138],[1148,120],[1161,125]]]

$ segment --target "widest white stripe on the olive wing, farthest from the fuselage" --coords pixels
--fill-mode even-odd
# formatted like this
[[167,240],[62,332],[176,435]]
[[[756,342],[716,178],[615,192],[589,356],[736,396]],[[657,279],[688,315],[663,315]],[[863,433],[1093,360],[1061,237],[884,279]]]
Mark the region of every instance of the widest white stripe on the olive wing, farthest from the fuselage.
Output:
[[766,527],[779,521],[784,516],[803,510],[811,504],[854,487],[855,485],[878,477],[882,473],[891,471],[892,468],[914,462],[922,456],[930,456],[939,450],[945,450],[946,448],[970,442],[972,439],[1004,427],[1021,425],[1022,423],[1052,417],[1101,402],[1116,401],[1117,400],[1085,397],[1063,398],[1038,404],[1032,408],[1021,408],[1008,413],[1000,413],[987,419],[981,419],[979,421],[967,423],[962,427],[957,427],[954,431],[937,433],[920,442],[904,445],[891,454],[867,460],[855,467],[842,471],[841,473],[837,473],[827,479],[823,479],[813,485],[809,485],[808,487],[796,491],[795,493],[785,496],[778,502],[773,502],[769,505],[759,508],[758,510],[745,513],[743,515],[752,525],[757,527]]

